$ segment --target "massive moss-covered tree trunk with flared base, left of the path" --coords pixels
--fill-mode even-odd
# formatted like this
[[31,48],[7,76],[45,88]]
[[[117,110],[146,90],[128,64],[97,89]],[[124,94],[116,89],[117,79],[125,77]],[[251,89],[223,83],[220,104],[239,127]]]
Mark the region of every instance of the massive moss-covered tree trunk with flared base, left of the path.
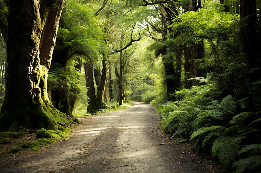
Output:
[[65,0],[9,2],[6,91],[0,130],[68,123],[47,97],[47,76]]

